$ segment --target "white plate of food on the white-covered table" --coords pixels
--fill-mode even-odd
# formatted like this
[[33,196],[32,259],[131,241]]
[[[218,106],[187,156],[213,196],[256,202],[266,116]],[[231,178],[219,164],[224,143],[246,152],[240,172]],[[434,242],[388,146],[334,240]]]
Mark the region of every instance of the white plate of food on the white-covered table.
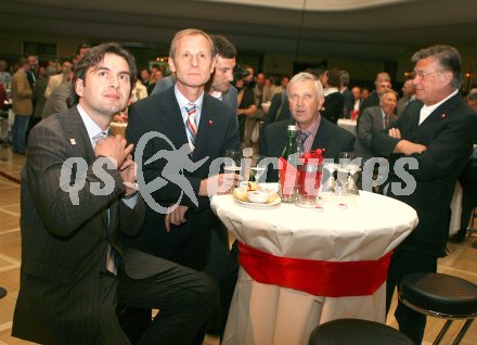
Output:
[[282,202],[275,184],[276,183],[261,183],[252,190],[249,186],[242,184],[233,190],[233,199],[246,207],[270,208]]

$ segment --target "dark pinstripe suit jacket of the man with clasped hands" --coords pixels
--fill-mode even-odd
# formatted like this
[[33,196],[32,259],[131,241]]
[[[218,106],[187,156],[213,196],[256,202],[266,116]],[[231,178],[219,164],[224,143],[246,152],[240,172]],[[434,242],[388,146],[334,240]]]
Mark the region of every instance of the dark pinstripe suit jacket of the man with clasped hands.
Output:
[[[83,167],[68,162],[70,157],[81,159]],[[105,166],[112,193],[93,195],[92,183],[102,183],[91,169],[95,161],[76,106],[44,119],[29,135],[22,171],[22,269],[14,336],[42,344],[93,344],[99,319],[105,315],[101,277],[108,242],[119,255],[131,258],[125,258],[125,270],[132,278],[176,266],[150,266],[141,259],[145,254],[117,245],[119,230],[130,234],[139,231],[144,207],[139,202],[132,210],[119,201],[125,190],[123,179],[117,169]],[[75,176],[83,174],[86,178],[77,205],[64,191],[70,178],[68,174],[66,181],[61,180],[64,164]]]

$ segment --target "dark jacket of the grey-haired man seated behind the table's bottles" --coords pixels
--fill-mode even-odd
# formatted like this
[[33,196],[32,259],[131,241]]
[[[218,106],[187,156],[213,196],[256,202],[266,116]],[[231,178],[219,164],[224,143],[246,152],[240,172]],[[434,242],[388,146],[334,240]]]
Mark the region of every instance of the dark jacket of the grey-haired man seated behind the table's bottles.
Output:
[[[286,145],[286,130],[288,125],[295,125],[295,120],[286,120],[271,124],[263,130],[263,137],[260,138],[260,154],[267,157],[280,157],[283,148]],[[352,151],[354,146],[354,136],[349,131],[332,124],[323,116],[320,127],[314,137],[312,150],[325,149],[324,158],[335,159],[337,162],[339,152]],[[279,171],[269,167],[267,171],[267,181],[276,182]]]

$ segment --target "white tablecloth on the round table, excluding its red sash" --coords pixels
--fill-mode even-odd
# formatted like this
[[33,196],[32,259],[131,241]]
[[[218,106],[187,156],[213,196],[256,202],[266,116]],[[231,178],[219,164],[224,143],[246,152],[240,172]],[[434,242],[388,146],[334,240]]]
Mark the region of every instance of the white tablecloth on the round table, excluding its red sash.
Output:
[[[417,225],[410,206],[368,192],[346,209],[283,203],[253,209],[232,195],[214,196],[211,207],[238,241],[273,255],[315,260],[376,260]],[[241,269],[222,344],[305,345],[313,328],[330,320],[385,322],[385,285],[370,296],[332,298],[261,284]]]

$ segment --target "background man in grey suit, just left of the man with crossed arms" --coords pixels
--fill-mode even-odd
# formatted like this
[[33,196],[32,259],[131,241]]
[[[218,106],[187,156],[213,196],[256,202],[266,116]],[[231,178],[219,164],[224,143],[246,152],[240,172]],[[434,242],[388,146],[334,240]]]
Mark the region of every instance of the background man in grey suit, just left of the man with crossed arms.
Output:
[[362,166],[366,159],[376,156],[371,148],[373,137],[396,119],[397,92],[386,91],[379,103],[379,106],[366,107],[358,118],[354,157],[362,158]]

